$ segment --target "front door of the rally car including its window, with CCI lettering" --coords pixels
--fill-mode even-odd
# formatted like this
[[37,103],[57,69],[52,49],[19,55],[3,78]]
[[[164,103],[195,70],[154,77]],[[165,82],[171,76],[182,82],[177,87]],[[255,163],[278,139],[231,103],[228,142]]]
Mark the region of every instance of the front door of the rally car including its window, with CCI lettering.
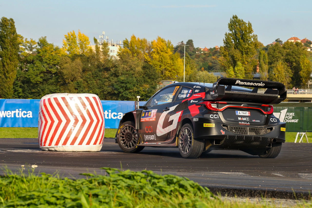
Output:
[[144,106],[140,117],[140,134],[143,141],[165,141],[168,131],[171,113],[173,111],[173,101],[178,92],[179,86],[165,87],[157,92]]

